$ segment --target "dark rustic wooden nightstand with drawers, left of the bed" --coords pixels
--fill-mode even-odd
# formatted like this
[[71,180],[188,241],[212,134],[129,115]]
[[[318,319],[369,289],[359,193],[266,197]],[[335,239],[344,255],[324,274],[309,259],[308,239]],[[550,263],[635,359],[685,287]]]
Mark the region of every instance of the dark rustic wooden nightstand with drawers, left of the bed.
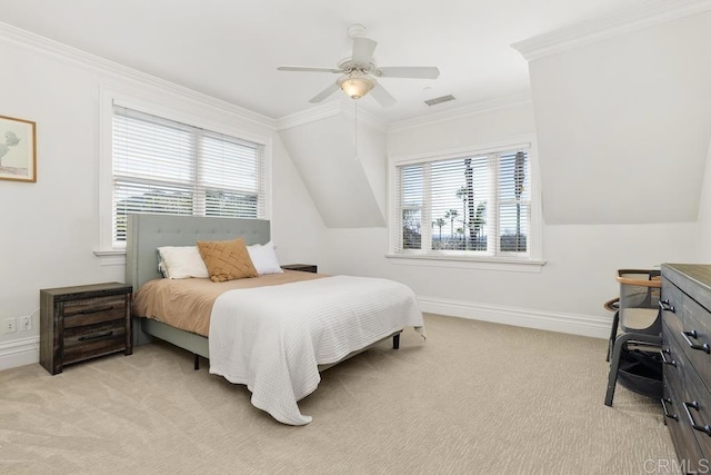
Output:
[[132,287],[109,283],[40,290],[40,364],[50,374],[110,353],[133,352]]

